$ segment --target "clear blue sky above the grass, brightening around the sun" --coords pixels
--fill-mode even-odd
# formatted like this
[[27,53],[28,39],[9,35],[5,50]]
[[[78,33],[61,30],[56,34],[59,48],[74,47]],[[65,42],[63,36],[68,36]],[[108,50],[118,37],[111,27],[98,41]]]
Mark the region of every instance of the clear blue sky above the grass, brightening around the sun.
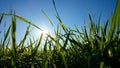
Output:
[[[113,14],[117,0],[55,0],[58,13],[67,27],[74,28],[77,25],[79,29],[84,24],[89,23],[88,12],[92,14],[95,21],[101,14],[101,23]],[[0,0],[0,13],[10,13],[10,8],[20,15],[38,25],[39,27],[52,32],[53,28],[49,21],[44,17],[41,10],[44,10],[54,25],[58,22],[55,18],[55,10],[52,0]],[[10,24],[10,18],[5,17],[2,23],[6,21],[6,28],[0,24],[0,31],[3,33]],[[27,24],[22,21],[17,22],[17,41],[23,38]],[[0,38],[3,34],[0,34]],[[36,35],[37,32],[33,32]]]

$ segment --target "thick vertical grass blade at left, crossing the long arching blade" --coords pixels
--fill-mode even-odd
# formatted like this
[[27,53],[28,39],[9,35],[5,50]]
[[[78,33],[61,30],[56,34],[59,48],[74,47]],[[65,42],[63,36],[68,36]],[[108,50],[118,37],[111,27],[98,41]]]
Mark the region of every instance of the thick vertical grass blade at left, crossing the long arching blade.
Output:
[[16,46],[16,17],[12,16],[12,31],[11,31],[11,35],[12,35],[12,66],[13,68],[16,68],[15,62],[16,62],[16,50],[15,50],[15,46]]

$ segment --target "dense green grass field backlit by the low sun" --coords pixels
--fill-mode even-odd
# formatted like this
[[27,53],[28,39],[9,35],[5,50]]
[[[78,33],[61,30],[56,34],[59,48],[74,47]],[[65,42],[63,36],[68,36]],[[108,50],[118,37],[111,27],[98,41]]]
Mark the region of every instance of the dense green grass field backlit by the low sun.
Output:
[[[30,26],[43,31],[42,28],[24,17],[3,13],[0,23],[5,16],[11,17],[11,25],[0,41],[0,67],[4,68],[117,68],[120,67],[120,0],[116,4],[114,14],[102,26],[99,21],[93,23],[89,16],[89,28],[84,25],[83,30],[67,28],[56,11],[59,25],[54,29],[54,37],[43,34],[35,41],[29,38]],[[51,25],[54,24],[42,10]],[[20,43],[16,42],[16,19],[28,23],[28,27]],[[61,29],[62,28],[62,29]],[[64,32],[61,32],[64,31]],[[43,41],[44,40],[44,41]],[[40,48],[43,46],[43,48]],[[40,48],[40,49],[39,49]]]

